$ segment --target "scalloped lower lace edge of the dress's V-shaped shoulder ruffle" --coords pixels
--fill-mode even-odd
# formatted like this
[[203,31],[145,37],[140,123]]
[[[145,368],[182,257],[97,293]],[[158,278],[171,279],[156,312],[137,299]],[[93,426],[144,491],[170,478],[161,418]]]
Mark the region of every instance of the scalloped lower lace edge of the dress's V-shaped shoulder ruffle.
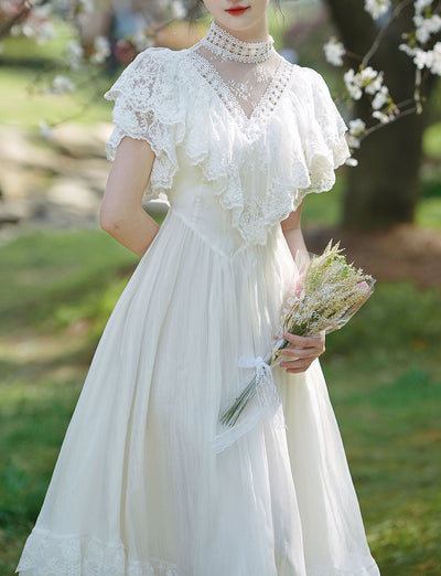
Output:
[[[161,78],[157,78],[157,82],[161,82]],[[106,93],[105,98],[109,100],[118,100],[119,98],[126,100],[126,95],[122,92],[122,87],[118,86],[117,88],[111,87]],[[151,125],[147,126],[144,124],[143,134],[135,129],[128,130],[127,126],[125,130],[116,126],[106,145],[108,158],[110,160],[115,158],[116,149],[125,136],[144,140],[151,146],[157,158],[146,189],[144,198],[148,201],[158,198],[161,192],[166,193],[166,191],[172,189],[176,171],[179,170],[175,148],[182,146],[191,163],[202,169],[205,180],[216,182],[213,190],[214,194],[218,196],[223,209],[232,211],[233,225],[238,230],[247,244],[265,244],[268,231],[286,218],[292,210],[295,210],[306,194],[331,190],[335,183],[335,168],[344,163],[349,156],[344,139],[345,130],[335,135],[335,138],[327,142],[325,141],[325,135],[323,135],[323,142],[320,143],[324,143],[327,150],[321,150],[321,146],[318,145],[316,151],[313,151],[309,161],[304,157],[299,158],[299,162],[303,162],[306,170],[309,168],[309,174],[305,174],[308,182],[302,182],[302,185],[295,186],[294,182],[281,182],[279,174],[271,174],[269,193],[277,198],[278,202],[272,202],[271,210],[268,210],[267,213],[262,211],[259,217],[252,220],[250,218],[251,213],[247,214],[249,205],[246,198],[244,198],[244,191],[233,182],[227,163],[219,162],[217,166],[214,166],[211,161],[209,146],[206,149],[202,147],[193,149],[187,146],[186,126],[183,118],[175,117],[169,121],[162,117],[160,118],[159,116],[162,115],[158,114],[155,104],[154,97],[152,97],[151,102],[144,103],[143,115],[150,117]],[[120,109],[120,114],[122,113],[126,115],[127,110]],[[161,125],[166,127],[166,129],[161,129]],[[263,206],[261,207],[263,209]]]

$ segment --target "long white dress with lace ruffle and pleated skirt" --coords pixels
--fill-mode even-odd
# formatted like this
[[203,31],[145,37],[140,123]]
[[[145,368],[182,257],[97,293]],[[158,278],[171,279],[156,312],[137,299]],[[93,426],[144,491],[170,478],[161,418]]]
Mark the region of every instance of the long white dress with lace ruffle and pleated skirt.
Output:
[[298,276],[280,221],[348,156],[319,74],[228,43],[212,24],[189,50],[148,49],[106,94],[109,158],[147,140],[147,194],[171,209],[103,334],[20,574],[379,574],[318,361],[276,367],[278,414],[215,449],[254,374],[239,358],[271,349]]

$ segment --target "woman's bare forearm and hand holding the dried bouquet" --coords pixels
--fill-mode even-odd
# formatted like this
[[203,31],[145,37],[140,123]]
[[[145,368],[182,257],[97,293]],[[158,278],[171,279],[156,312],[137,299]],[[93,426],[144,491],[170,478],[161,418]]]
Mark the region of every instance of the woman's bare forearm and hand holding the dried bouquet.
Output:
[[[288,218],[281,222],[284,239],[294,259],[297,258],[298,252],[300,257],[304,256],[305,259],[309,259],[302,228],[300,226],[302,207],[303,202],[295,212],[291,212]],[[324,332],[316,337],[299,337],[284,333],[283,338],[290,342],[290,346],[280,352],[280,354],[284,356],[280,366],[287,369],[287,372],[294,374],[305,372],[312,362],[324,352]]]

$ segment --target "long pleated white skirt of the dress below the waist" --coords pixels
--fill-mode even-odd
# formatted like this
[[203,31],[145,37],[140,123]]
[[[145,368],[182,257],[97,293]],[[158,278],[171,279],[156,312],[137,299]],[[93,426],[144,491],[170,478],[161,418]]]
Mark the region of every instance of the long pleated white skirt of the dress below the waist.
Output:
[[98,345],[20,573],[377,574],[319,363],[275,369],[287,429],[213,447],[252,376],[239,353],[271,346],[295,274],[280,231],[226,255],[169,212]]

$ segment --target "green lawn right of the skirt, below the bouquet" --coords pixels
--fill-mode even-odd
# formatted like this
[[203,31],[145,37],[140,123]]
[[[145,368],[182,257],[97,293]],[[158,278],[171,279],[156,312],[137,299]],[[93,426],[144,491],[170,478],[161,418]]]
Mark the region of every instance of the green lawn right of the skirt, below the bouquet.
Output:
[[381,574],[441,566],[441,290],[379,282],[324,370]]

